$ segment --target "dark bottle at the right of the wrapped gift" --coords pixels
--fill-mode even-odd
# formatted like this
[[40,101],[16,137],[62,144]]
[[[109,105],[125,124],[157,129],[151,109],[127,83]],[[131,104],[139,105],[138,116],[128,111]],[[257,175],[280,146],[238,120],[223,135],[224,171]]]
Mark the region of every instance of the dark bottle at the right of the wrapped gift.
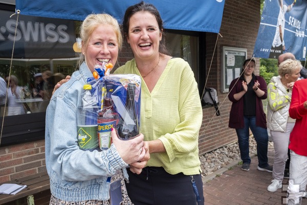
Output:
[[135,103],[136,85],[129,83],[127,86],[126,112],[121,116],[118,124],[118,135],[121,139],[130,139],[139,134],[138,114]]

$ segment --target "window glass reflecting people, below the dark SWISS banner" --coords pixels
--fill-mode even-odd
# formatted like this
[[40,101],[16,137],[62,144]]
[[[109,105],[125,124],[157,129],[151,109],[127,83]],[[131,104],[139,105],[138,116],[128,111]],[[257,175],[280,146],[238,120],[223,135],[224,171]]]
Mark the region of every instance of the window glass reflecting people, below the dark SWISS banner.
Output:
[[6,81],[0,80],[5,84],[1,89],[8,94],[1,116],[46,112],[55,84],[74,72],[78,59],[14,59],[9,79],[10,60],[0,58],[0,76]]

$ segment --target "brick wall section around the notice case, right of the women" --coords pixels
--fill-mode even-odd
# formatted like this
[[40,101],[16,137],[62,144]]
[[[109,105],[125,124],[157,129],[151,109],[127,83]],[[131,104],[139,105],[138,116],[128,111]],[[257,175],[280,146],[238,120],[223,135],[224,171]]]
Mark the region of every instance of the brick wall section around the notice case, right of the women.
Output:
[[[200,154],[215,150],[219,147],[237,140],[234,129],[228,128],[228,119],[231,103],[228,100],[228,93],[221,93],[221,51],[223,46],[245,48],[248,57],[251,57],[257,37],[260,23],[260,1],[259,0],[232,0],[225,1],[224,14],[220,33],[218,36],[215,53],[217,34],[206,34],[207,49],[207,75],[209,72],[207,87],[213,87],[218,93],[218,107],[220,116],[215,115],[215,109],[203,109],[203,126],[200,131],[199,148]],[[259,59],[256,59],[256,71],[259,73]],[[202,88],[201,88],[202,89]]]

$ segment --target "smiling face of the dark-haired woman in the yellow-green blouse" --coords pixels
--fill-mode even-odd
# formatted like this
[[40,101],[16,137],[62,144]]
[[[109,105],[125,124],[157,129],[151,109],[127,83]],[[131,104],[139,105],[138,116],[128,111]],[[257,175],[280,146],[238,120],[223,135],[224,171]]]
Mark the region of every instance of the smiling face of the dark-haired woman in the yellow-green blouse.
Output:
[[129,19],[127,42],[135,58],[148,58],[159,54],[162,32],[156,17],[147,11],[140,11]]

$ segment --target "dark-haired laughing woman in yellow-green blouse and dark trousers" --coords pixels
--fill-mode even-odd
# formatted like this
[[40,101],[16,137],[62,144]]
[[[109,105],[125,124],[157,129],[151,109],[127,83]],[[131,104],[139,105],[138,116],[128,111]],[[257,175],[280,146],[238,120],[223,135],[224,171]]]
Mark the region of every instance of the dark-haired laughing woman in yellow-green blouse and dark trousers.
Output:
[[150,153],[141,174],[133,166],[127,170],[128,195],[136,205],[204,204],[198,148],[203,111],[194,74],[166,52],[163,22],[152,4],[127,8],[123,31],[135,58],[114,73],[142,77],[140,132]]

